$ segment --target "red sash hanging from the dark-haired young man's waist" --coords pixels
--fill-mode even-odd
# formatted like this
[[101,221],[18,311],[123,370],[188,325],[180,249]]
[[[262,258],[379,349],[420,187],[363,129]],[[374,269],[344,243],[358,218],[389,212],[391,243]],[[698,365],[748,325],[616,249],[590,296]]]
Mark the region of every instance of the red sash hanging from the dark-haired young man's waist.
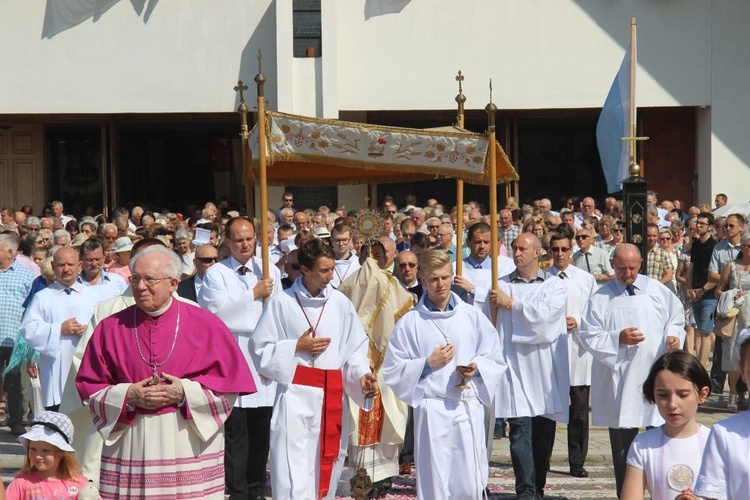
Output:
[[333,464],[341,448],[341,413],[344,411],[344,384],[341,370],[323,370],[297,366],[293,384],[323,389],[323,412],[320,419],[320,477],[318,498],[328,494]]

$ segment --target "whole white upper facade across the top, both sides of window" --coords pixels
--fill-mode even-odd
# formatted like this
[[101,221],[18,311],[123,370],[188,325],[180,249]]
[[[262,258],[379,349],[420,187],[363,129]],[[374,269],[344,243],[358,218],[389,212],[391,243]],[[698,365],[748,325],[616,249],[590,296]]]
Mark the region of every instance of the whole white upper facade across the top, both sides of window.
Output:
[[[469,109],[487,103],[490,78],[501,109],[598,107],[631,16],[639,21],[639,104],[709,104],[712,2],[404,0],[399,13],[365,19],[366,2],[378,1],[322,2],[316,114],[452,108],[458,69]],[[254,96],[258,48],[270,105],[304,104],[295,99],[308,82],[292,58],[291,0],[162,1],[147,22],[121,0],[96,22],[43,39],[45,7],[3,3],[0,44],[12,78],[0,81],[0,113],[232,110],[238,78]],[[739,45],[727,49],[744,56]]]

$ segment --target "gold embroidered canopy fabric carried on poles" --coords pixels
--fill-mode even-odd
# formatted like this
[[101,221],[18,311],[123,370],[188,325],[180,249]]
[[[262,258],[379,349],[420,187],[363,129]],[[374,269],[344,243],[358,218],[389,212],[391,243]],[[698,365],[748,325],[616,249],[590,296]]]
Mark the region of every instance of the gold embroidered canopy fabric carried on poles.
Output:
[[[268,183],[364,184],[461,179],[487,184],[487,137],[457,128],[420,130],[266,113]],[[250,132],[252,169],[258,168],[259,133]],[[498,183],[518,180],[495,143]]]

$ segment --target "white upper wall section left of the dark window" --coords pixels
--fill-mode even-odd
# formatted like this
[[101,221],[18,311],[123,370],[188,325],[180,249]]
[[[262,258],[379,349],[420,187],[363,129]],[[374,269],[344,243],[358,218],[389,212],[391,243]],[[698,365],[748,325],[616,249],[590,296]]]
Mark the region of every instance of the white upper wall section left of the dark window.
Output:
[[123,0],[96,22],[42,38],[45,4],[94,3],[2,2],[0,113],[231,111],[238,78],[255,95],[258,48],[264,72],[276,73],[272,0],[162,1],[148,22]]

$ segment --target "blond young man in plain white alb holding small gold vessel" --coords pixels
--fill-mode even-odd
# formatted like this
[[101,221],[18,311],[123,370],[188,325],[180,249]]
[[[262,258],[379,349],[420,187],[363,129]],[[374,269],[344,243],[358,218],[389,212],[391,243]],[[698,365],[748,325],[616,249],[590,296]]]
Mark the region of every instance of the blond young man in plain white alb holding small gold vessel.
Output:
[[480,498],[489,475],[483,405],[505,370],[500,344],[487,318],[451,293],[448,254],[429,250],[419,266],[426,293],[396,324],[381,374],[414,408],[418,498]]

